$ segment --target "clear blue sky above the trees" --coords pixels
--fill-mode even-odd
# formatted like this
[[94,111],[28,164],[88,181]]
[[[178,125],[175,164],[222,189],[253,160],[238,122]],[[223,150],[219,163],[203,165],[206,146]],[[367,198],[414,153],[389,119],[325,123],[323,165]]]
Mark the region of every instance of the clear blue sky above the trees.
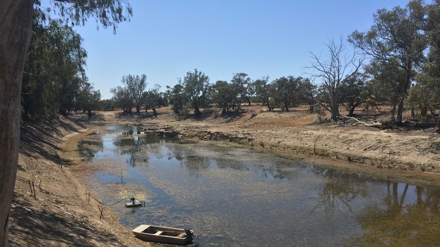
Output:
[[146,74],[148,89],[159,84],[161,91],[194,69],[210,83],[241,72],[270,81],[308,77],[309,51],[325,53],[328,39],[366,31],[378,9],[404,7],[409,0],[129,2],[133,17],[118,25],[116,35],[97,31],[93,19],[75,27],[88,52],[87,76],[102,99],[111,98],[110,89],[123,86],[128,74]]

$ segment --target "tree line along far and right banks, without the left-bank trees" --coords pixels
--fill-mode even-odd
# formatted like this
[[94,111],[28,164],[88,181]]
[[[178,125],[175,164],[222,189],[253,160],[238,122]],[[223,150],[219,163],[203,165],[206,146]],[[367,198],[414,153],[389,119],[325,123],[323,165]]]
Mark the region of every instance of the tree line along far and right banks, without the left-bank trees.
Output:
[[159,92],[156,85],[154,90],[138,93],[141,97],[129,93],[133,90],[123,78],[126,87],[112,89],[112,99],[128,112],[136,107],[139,113],[140,102],[153,111],[160,105],[172,105],[177,114],[192,110],[195,115],[210,105],[226,114],[251,102],[266,105],[268,111],[275,107],[289,111],[297,104],[307,104],[310,111],[329,111],[332,121],[337,121],[340,106],[354,116],[356,107],[387,104],[392,108],[390,124],[402,124],[405,109],[411,109],[412,117],[431,120],[440,128],[439,26],[440,2],[410,1],[405,8],[378,10],[367,32],[354,31],[347,41],[343,37],[329,40],[326,57],[310,52],[311,65],[304,68],[310,78],[290,75],[272,81],[268,76],[252,80],[246,73],[236,73],[229,82],[210,84],[209,77],[195,69],[165,92]]

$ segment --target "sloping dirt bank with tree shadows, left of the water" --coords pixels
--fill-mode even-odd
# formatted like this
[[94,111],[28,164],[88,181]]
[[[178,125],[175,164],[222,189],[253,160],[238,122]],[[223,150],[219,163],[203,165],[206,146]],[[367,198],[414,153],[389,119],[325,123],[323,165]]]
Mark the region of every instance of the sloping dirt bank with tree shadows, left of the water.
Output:
[[11,246],[151,246],[121,227],[70,171],[76,161],[65,159],[65,141],[86,128],[64,117],[22,125]]

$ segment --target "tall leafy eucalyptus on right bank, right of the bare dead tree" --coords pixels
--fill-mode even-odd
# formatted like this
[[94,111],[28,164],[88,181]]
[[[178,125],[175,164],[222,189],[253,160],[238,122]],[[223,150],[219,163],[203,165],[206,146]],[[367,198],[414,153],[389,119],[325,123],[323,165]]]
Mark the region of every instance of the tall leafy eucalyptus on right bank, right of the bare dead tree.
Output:
[[396,124],[402,123],[404,100],[415,75],[414,68],[424,60],[427,49],[427,37],[422,32],[421,21],[424,11],[421,8],[422,1],[416,0],[409,2],[406,8],[380,9],[373,15],[374,24],[368,32],[355,31],[349,38],[364,54],[374,60],[396,64],[405,72],[404,81],[396,81],[396,88],[393,88],[400,92],[396,118],[392,113],[392,121]]

